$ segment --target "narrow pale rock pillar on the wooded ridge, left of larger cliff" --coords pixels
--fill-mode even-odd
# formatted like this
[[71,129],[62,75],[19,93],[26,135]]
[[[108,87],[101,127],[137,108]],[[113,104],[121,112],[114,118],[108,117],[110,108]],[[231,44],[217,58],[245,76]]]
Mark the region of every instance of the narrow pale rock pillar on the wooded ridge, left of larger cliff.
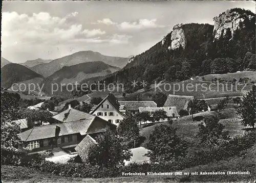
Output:
[[179,28],[177,26],[175,26],[173,28],[173,32],[172,32],[172,45],[171,48],[172,49],[177,49],[180,46],[185,49],[186,46],[186,38],[185,38],[185,33],[184,30],[182,28]]

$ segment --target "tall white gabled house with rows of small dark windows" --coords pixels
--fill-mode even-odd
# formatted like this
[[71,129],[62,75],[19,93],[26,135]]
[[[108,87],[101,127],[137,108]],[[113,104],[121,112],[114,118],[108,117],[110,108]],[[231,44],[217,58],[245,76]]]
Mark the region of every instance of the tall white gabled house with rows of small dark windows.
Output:
[[90,114],[101,117],[115,125],[126,118],[124,106],[121,105],[117,98],[108,94],[97,106],[93,107]]

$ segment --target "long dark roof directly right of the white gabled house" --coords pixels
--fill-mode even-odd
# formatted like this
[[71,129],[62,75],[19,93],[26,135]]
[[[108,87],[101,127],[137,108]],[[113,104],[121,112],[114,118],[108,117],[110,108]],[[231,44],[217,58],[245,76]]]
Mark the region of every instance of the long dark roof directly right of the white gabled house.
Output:
[[129,111],[138,111],[139,108],[145,107],[157,107],[154,101],[119,101],[119,103]]

